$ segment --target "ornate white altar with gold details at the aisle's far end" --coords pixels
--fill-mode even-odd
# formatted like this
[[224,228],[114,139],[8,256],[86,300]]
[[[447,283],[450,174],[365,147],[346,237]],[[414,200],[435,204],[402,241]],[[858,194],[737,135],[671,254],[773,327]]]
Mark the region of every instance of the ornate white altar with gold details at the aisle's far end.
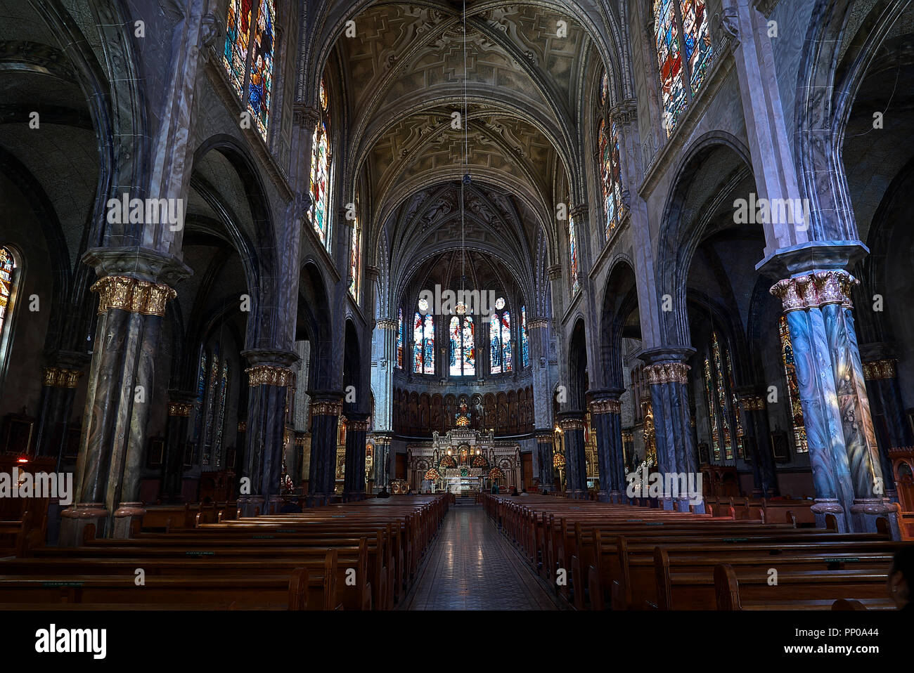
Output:
[[414,491],[469,495],[493,484],[520,488],[520,445],[496,441],[494,431],[458,427],[430,442],[407,446],[409,483]]

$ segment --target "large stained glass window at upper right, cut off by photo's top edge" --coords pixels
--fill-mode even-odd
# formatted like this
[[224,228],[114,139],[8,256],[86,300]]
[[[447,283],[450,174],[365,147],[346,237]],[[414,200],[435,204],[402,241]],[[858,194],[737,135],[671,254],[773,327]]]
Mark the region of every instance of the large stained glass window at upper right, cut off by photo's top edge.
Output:
[[705,81],[711,63],[705,0],[654,0],[654,47],[669,135]]

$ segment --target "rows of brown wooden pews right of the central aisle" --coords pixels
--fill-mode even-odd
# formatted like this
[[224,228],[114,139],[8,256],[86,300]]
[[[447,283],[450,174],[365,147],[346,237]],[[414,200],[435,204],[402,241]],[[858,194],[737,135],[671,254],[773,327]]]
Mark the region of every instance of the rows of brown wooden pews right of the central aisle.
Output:
[[[695,514],[487,494],[482,502],[578,609],[822,610],[836,601],[844,609],[889,609],[892,556],[911,544],[887,533],[735,518],[731,510]],[[557,582],[562,576],[567,582]]]

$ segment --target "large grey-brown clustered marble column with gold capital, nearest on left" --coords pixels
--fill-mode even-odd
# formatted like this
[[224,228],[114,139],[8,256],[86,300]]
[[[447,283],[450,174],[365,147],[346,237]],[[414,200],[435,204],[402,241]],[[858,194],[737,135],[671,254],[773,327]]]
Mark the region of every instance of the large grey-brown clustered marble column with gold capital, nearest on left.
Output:
[[[92,250],[83,260],[100,279],[98,322],[88,381],[74,505],[61,512],[60,543],[82,542],[94,523],[99,536],[126,537],[143,516],[138,502],[146,424],[154,391],[154,360],[162,318],[175,290],[159,279],[185,277],[189,269],[139,248]],[[122,275],[129,270],[140,278]]]

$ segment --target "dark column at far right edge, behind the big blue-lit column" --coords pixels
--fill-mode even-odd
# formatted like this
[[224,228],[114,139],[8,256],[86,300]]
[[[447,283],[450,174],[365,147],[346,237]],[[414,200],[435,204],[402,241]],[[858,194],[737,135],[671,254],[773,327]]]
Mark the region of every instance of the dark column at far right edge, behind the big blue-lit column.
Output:
[[914,446],[914,436],[905,415],[901,387],[898,385],[898,361],[894,358],[870,360],[863,363],[863,375],[874,420],[878,415],[883,421],[876,430],[877,437],[882,440],[879,442],[879,459],[882,477],[886,480],[886,497],[898,502],[895,472],[888,452],[892,448]]

